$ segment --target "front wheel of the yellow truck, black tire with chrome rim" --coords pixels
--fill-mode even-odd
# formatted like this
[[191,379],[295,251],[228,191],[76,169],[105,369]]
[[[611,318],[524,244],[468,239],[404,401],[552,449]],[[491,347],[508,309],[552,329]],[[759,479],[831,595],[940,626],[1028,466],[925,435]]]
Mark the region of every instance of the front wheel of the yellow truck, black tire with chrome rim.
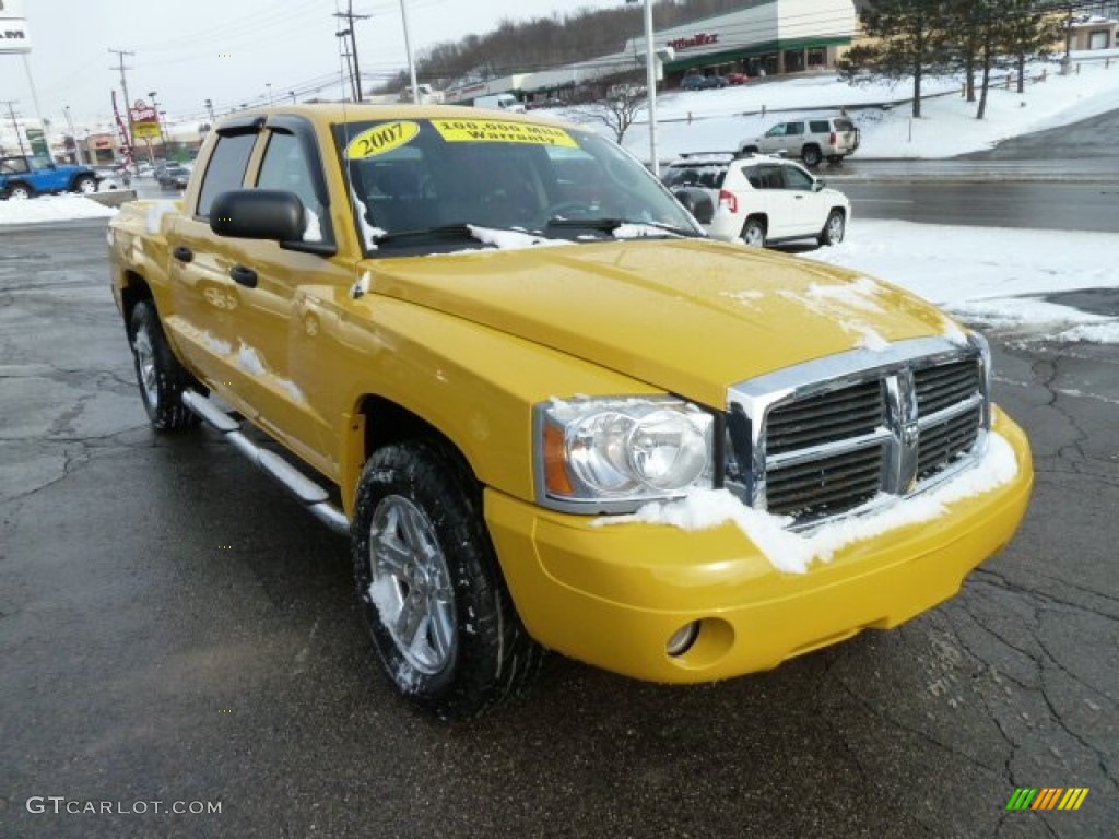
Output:
[[544,650],[517,615],[480,487],[457,456],[426,441],[378,450],[350,534],[366,624],[399,694],[460,719],[532,685]]

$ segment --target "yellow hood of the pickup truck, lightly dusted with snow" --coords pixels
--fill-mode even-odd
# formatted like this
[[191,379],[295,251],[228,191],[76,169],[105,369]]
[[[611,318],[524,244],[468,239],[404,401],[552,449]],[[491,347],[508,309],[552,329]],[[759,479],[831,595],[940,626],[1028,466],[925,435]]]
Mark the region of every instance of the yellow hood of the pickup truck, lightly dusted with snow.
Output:
[[808,260],[638,239],[368,260],[368,291],[712,406],[732,384],[855,348],[959,334],[931,304]]

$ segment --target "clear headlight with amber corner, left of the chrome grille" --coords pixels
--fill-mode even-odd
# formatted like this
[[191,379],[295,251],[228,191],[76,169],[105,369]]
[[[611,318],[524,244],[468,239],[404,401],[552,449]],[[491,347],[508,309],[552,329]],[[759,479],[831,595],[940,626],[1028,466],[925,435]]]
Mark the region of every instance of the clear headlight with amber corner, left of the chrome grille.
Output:
[[709,413],[671,397],[537,405],[542,500],[566,510],[612,511],[709,489],[714,425]]

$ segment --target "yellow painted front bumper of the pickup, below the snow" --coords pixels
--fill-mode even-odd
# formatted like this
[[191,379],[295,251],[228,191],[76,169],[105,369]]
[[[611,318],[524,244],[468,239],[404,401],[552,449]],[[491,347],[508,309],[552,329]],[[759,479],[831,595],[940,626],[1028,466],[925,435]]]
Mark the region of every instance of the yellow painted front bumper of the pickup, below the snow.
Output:
[[[638,679],[725,679],[896,626],[955,595],[1010,540],[1029,501],[1028,442],[996,416],[1018,460],[1013,481],[850,545],[807,574],[773,568],[733,524],[594,527],[493,490],[486,519],[520,618],[542,644]],[[693,621],[695,644],[669,656],[669,638]]]

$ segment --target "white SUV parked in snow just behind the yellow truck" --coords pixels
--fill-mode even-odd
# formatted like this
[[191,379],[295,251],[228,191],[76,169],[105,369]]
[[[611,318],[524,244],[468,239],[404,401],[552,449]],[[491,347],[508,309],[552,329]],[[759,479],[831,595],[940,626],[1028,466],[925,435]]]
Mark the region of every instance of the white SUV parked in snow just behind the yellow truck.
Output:
[[[843,242],[850,201],[805,167],[781,158],[731,154],[688,155],[669,164],[661,177],[715,238],[741,238],[763,246],[815,238],[820,245]],[[694,192],[711,199],[697,214]],[[703,216],[707,216],[706,218]]]

